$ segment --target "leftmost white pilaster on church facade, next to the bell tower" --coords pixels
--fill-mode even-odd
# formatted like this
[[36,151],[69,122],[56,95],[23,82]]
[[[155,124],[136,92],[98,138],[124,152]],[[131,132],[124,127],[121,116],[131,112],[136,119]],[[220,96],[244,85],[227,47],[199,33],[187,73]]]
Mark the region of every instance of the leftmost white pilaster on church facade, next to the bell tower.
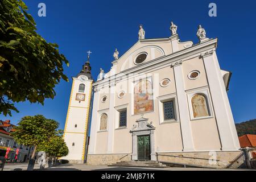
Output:
[[90,124],[90,141],[89,141],[89,149],[88,154],[95,154],[95,146],[96,146],[96,133],[97,133],[97,110],[98,110],[98,101],[99,101],[99,92],[94,91],[93,95],[93,111],[92,111],[92,121]]

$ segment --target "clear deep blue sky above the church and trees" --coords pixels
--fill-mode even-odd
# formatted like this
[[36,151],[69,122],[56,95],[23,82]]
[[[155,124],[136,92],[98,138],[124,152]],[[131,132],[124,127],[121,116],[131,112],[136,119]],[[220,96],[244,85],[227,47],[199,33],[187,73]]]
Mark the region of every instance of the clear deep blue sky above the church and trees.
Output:
[[[64,72],[69,82],[56,86],[54,100],[44,106],[23,102],[16,104],[20,113],[13,112],[16,124],[25,115],[43,114],[55,119],[64,129],[72,76],[80,72],[90,49],[92,75],[100,68],[108,72],[113,51],[120,55],[137,42],[138,25],[143,24],[146,38],[168,38],[171,20],[178,26],[182,42],[197,43],[198,24],[208,38],[218,38],[217,56],[222,69],[232,71],[228,92],[236,122],[256,118],[256,2],[255,1],[82,1],[25,0],[34,17],[38,33],[48,42],[59,44],[60,52],[69,60]],[[38,4],[46,4],[46,17],[38,16]],[[208,5],[217,5],[217,17],[208,16]]]

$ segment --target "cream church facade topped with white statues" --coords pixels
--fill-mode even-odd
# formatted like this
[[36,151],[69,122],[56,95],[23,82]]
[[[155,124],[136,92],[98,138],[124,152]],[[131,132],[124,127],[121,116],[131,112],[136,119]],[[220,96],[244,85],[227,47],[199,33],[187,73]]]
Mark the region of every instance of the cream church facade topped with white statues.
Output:
[[[115,49],[110,71],[101,69],[97,81],[89,81],[94,99],[88,164],[158,160],[224,167],[240,154],[227,95],[231,73],[220,68],[217,39],[208,39],[201,26],[196,44],[181,42],[174,23],[170,30],[170,38],[146,39],[140,26],[138,42],[121,57]],[[80,136],[66,125],[65,140]]]

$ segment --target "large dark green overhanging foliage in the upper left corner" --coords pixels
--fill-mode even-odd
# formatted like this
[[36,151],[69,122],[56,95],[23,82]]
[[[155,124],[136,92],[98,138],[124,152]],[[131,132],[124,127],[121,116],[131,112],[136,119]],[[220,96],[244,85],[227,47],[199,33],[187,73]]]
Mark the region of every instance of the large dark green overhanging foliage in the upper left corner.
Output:
[[[22,0],[0,0],[0,113],[18,111],[15,102],[44,104],[55,97],[63,63],[57,44],[47,43],[36,33],[36,24]],[[13,102],[13,103],[11,103]]]

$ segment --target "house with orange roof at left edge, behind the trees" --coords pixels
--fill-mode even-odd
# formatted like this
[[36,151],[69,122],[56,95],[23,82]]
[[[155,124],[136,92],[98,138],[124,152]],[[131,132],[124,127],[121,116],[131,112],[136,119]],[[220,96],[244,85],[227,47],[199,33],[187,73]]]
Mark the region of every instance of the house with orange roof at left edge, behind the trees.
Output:
[[34,147],[23,146],[15,142],[13,137],[10,136],[11,131],[14,131],[15,125],[10,123],[10,120],[0,120],[0,156],[5,156],[8,147],[11,148],[9,159],[14,160],[15,151],[19,148],[18,161],[27,162],[28,156],[31,158]]

